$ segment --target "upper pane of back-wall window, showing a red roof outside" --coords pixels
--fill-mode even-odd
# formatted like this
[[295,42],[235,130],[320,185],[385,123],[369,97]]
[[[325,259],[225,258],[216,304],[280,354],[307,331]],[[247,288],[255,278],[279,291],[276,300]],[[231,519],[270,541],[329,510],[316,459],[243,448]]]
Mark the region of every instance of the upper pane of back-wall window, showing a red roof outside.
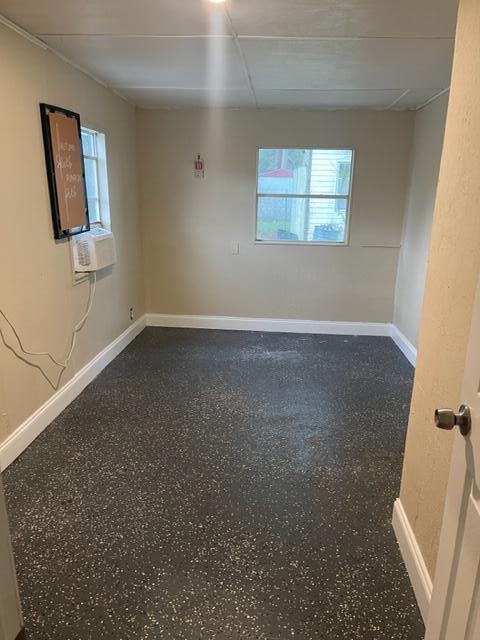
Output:
[[351,149],[260,149],[258,193],[349,195]]

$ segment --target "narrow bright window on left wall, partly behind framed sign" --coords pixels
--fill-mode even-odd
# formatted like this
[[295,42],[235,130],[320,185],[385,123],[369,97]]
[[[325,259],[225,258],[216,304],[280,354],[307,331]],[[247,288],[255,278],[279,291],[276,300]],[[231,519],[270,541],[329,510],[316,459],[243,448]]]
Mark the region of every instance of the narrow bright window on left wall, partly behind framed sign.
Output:
[[110,226],[105,136],[82,127],[83,163],[91,224]]

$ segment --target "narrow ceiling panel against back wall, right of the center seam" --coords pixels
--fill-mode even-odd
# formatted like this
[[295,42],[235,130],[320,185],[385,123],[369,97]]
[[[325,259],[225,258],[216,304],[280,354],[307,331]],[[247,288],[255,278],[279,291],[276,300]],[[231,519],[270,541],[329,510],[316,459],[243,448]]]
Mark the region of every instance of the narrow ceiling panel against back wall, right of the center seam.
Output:
[[271,91],[257,90],[259,107],[289,109],[387,109],[401,91]]

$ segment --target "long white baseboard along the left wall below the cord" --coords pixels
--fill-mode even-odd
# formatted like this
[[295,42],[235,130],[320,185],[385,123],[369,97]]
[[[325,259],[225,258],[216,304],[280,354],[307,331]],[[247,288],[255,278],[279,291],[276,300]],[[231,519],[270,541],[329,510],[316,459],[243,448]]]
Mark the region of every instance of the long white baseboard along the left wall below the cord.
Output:
[[0,469],[5,470],[90,382],[145,328],[145,316],[126,329],[31,415],[0,445]]

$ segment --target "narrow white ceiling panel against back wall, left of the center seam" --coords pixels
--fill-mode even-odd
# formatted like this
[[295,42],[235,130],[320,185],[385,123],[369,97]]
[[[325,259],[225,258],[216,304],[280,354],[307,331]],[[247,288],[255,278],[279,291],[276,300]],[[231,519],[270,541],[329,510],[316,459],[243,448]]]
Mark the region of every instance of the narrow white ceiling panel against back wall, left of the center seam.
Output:
[[118,89],[120,95],[144,109],[158,108],[255,108],[248,89],[205,91],[200,89]]

